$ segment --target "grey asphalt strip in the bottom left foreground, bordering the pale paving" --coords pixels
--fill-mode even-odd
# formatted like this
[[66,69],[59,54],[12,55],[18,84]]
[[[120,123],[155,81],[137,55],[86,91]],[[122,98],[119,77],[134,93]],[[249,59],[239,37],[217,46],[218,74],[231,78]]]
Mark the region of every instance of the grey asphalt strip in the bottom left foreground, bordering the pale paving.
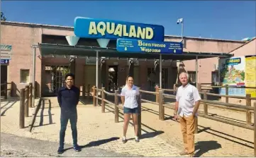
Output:
[[72,145],[67,145],[63,154],[57,154],[57,145],[57,142],[1,133],[1,157],[138,157],[92,148],[89,145],[84,145],[81,152],[74,152]]

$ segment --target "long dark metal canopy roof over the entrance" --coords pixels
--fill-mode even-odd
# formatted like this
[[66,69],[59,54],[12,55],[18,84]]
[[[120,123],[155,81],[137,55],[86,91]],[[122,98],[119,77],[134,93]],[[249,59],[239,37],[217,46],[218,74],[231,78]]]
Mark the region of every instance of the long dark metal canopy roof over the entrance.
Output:
[[[121,53],[116,51],[116,48],[101,48],[101,47],[85,47],[85,46],[69,46],[65,44],[48,44],[42,43],[38,44],[40,53],[42,56],[77,56],[86,57],[96,56],[96,51],[99,51],[99,57],[118,57],[118,58],[134,58],[134,59],[159,59],[159,54],[152,53]],[[196,52],[186,52],[183,54],[162,54],[163,60],[194,60],[198,56],[198,59],[206,59],[212,57],[229,58],[233,54],[224,53],[196,53]]]

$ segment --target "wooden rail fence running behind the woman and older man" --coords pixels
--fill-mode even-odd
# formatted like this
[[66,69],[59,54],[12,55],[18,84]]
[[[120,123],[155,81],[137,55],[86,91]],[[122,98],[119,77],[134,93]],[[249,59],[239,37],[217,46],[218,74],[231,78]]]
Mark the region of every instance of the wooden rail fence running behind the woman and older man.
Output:
[[[104,87],[102,87],[101,89],[96,88],[95,86],[92,87],[93,89],[93,104],[94,107],[96,107],[96,99],[100,99],[101,100],[101,112],[105,112],[105,102],[113,105],[115,107],[115,122],[118,122],[118,115],[119,115],[119,109],[123,109],[123,106],[119,105],[118,102],[118,97],[121,97],[118,94],[118,90],[115,91],[115,93],[110,93],[110,92],[106,92],[106,90],[104,90]],[[98,97],[96,97],[96,92],[101,92],[101,95],[98,95]],[[138,119],[138,124],[139,124],[139,133],[141,135],[141,102],[148,102],[151,104],[155,104],[157,106],[159,106],[159,119],[161,121],[165,120],[165,108],[168,109],[174,109],[175,105],[172,103],[165,103],[164,100],[165,98],[169,98],[169,99],[175,99],[176,96],[175,95],[169,95],[166,94],[165,92],[173,92],[174,94],[176,94],[176,90],[167,90],[167,89],[156,89],[156,92],[150,92],[150,91],[145,91],[145,90],[140,90],[140,94],[141,93],[147,93],[147,94],[151,94],[151,95],[155,95],[155,102],[146,100],[146,99],[142,99],[141,95],[140,95],[140,99],[138,100],[139,102],[139,109],[140,109],[140,115],[139,115],[139,119]],[[206,118],[206,119],[211,119],[214,121],[219,121],[222,123],[227,123],[233,126],[238,126],[240,128],[246,128],[249,130],[254,130],[254,148],[255,148],[255,157],[256,157],[256,102],[254,104],[254,107],[252,107],[251,104],[251,100],[255,99],[254,97],[250,97],[250,95],[247,95],[246,97],[240,97],[240,96],[228,96],[228,95],[223,95],[221,97],[234,97],[234,98],[241,98],[241,99],[247,99],[247,102],[245,105],[240,105],[240,104],[231,104],[231,103],[227,103],[227,102],[219,102],[219,101],[211,101],[211,100],[207,100],[207,95],[217,95],[217,94],[213,94],[213,93],[208,93],[208,92],[201,92],[200,88],[199,88],[199,93],[201,95],[204,95],[203,99],[201,99],[201,104],[204,105],[204,111],[199,111],[199,116]],[[110,95],[110,96],[114,96],[114,103],[108,101],[107,99],[105,99],[106,95]],[[212,106],[212,107],[218,107],[218,108],[224,108],[224,109],[230,109],[230,110],[239,110],[239,111],[245,111],[245,116],[246,116],[246,123],[238,123],[236,121],[230,121],[228,119],[220,119],[218,117],[215,116],[210,116],[208,115],[208,106]],[[252,124],[252,116],[251,114],[254,113],[254,123]],[[195,126],[196,126],[196,131],[195,133],[198,132],[198,118],[196,118],[195,121]]]

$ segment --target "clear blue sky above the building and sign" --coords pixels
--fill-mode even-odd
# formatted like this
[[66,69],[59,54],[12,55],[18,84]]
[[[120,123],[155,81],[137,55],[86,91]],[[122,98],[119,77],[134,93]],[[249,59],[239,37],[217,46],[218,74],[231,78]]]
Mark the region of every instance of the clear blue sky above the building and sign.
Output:
[[163,25],[165,35],[241,40],[256,35],[256,1],[1,1],[7,20],[74,25],[76,16]]

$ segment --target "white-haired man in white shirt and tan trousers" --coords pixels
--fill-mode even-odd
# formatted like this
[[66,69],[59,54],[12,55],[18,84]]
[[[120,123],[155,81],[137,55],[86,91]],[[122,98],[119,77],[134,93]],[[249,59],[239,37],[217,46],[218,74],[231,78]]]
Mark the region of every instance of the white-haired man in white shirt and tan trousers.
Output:
[[177,90],[174,119],[177,120],[179,115],[179,122],[182,127],[185,150],[180,154],[189,154],[189,156],[194,157],[194,124],[201,97],[196,87],[188,83],[188,78],[188,73],[179,74],[182,86]]

